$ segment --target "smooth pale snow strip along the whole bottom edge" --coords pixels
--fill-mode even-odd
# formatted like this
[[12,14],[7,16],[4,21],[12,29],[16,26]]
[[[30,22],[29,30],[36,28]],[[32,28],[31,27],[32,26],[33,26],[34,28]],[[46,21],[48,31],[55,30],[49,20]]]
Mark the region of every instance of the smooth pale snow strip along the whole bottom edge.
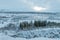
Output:
[[51,39],[51,38],[44,38],[44,37],[38,37],[38,38],[31,38],[31,39],[25,39],[25,38],[12,38],[7,35],[4,35],[3,33],[0,33],[0,40],[60,40],[60,39]]

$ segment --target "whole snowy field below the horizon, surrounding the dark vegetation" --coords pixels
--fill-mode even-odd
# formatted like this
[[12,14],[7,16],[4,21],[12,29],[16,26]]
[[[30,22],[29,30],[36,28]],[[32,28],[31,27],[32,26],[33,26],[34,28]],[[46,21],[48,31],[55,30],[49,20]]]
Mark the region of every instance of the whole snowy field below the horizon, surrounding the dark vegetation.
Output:
[[[53,28],[18,30],[19,23],[34,20],[60,23],[60,14],[5,14],[0,13],[0,40],[60,40],[60,25]],[[12,24],[9,26],[9,24]]]

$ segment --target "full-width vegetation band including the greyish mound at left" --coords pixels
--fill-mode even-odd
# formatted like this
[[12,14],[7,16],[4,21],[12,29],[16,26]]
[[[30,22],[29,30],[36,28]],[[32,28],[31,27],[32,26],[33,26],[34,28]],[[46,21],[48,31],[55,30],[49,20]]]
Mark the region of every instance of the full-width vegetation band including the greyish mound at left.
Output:
[[60,27],[60,23],[56,23],[56,22],[47,22],[47,21],[34,21],[34,22],[28,22],[28,21],[24,21],[24,22],[20,22],[20,25],[17,27],[15,24],[13,23],[9,23],[8,25],[6,25],[6,27],[0,28],[1,29],[6,29],[6,30],[20,30],[20,29],[26,29],[26,30],[31,30],[31,29],[35,29],[35,28],[53,28],[53,27]]

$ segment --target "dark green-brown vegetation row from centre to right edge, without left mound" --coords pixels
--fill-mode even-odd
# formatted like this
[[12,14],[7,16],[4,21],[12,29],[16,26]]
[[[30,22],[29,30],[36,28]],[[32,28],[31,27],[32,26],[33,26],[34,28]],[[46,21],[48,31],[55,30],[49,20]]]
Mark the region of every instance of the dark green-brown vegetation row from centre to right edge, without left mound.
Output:
[[56,23],[56,22],[47,22],[47,21],[34,21],[34,23],[30,22],[28,23],[27,21],[25,22],[21,22],[20,23],[20,28],[21,29],[25,29],[25,28],[30,28],[30,27],[49,27],[49,26],[56,26],[56,27],[59,27],[60,26],[60,23]]

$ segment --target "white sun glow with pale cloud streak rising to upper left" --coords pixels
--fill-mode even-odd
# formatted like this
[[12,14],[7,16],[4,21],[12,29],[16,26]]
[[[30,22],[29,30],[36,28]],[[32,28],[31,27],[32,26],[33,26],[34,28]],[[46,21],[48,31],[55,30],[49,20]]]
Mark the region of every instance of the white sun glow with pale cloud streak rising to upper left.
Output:
[[28,0],[25,0],[25,1],[22,1],[22,2],[26,3],[33,11],[41,12],[41,11],[46,10],[46,8],[40,7],[37,4],[35,4],[34,2],[31,2],[31,1],[28,1]]

